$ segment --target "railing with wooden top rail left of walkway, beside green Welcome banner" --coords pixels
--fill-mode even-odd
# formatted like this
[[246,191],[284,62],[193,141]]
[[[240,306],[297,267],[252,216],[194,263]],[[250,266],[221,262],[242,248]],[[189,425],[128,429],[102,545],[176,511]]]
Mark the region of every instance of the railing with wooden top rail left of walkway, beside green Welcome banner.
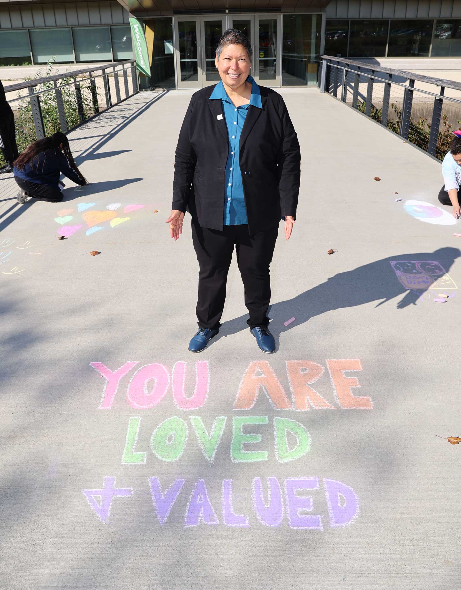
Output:
[[[30,140],[42,139],[58,130],[67,133],[138,92],[135,60],[5,86],[6,99],[18,113],[17,137],[25,132],[30,134],[30,130],[25,129],[29,118],[35,129],[35,138],[29,136]],[[11,98],[12,93],[16,94],[14,98]]]

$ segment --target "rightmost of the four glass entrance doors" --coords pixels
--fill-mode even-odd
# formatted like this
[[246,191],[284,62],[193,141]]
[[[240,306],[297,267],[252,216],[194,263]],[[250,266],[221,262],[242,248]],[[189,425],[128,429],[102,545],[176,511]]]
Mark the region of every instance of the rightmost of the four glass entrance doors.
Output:
[[256,15],[254,79],[261,86],[280,86],[281,15]]

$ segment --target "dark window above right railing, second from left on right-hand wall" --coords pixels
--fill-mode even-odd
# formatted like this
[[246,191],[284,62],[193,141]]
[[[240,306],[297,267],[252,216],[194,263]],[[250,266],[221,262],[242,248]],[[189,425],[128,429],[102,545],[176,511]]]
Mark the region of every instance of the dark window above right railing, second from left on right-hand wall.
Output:
[[351,21],[349,57],[384,57],[389,21]]

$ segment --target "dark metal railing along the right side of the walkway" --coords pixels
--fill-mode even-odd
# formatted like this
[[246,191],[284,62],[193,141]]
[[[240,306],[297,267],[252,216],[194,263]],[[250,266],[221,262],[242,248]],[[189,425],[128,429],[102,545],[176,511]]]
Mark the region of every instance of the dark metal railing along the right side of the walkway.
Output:
[[453,80],[322,55],[318,86],[439,160],[459,128],[461,83]]

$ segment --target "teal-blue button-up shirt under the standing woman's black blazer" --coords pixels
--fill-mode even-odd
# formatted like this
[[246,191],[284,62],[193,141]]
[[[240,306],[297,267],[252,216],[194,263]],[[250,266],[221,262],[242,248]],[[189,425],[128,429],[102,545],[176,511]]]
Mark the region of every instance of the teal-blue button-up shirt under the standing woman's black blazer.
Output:
[[[262,109],[263,105],[261,103],[261,93],[258,85],[251,76],[247,80],[251,82],[250,104],[258,109]],[[243,104],[240,107],[234,106],[233,102],[227,96],[222,81],[212,91],[210,99],[220,99],[223,101],[223,113],[229,136],[229,153],[225,165],[226,200],[223,223],[224,225],[247,224],[243,183],[241,181],[240,164],[238,163],[238,143],[250,104]]]

